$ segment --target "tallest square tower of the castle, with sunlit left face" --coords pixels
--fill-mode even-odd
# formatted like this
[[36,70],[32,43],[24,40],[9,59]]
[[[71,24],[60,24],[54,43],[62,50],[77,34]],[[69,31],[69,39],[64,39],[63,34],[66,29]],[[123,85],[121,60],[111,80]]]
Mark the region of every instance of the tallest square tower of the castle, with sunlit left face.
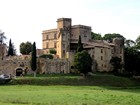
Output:
[[57,19],[57,29],[59,30],[57,53],[60,58],[66,58],[67,52],[70,51],[71,19]]

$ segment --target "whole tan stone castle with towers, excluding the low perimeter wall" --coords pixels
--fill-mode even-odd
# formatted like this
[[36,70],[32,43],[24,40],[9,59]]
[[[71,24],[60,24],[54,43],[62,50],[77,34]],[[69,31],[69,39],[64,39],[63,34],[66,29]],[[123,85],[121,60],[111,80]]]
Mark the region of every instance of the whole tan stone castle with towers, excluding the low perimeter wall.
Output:
[[50,49],[55,49],[61,59],[74,60],[79,35],[85,50],[93,59],[93,70],[110,71],[110,59],[113,56],[124,60],[123,39],[115,38],[112,43],[104,40],[91,39],[91,27],[85,25],[72,25],[71,18],[57,19],[57,28],[42,32],[43,53],[48,54]]

